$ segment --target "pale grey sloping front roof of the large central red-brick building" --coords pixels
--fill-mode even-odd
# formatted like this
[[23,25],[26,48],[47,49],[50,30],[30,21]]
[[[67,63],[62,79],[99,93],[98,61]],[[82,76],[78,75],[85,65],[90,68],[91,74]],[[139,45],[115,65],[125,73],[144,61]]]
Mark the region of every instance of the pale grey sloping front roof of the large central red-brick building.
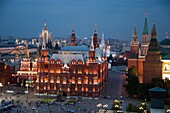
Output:
[[53,54],[51,59],[56,60],[61,60],[62,63],[67,63],[70,64],[71,61],[74,59],[76,62],[78,60],[81,60],[84,64],[84,57],[82,54]]

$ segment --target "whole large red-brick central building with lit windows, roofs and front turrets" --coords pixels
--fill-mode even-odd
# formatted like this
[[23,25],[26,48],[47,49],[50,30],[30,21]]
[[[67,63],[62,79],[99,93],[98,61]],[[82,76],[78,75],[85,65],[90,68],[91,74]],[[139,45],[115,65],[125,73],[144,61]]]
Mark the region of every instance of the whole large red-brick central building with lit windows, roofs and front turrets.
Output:
[[92,37],[87,46],[66,46],[58,54],[48,55],[42,47],[37,61],[35,95],[99,97],[108,77],[106,56],[95,48]]

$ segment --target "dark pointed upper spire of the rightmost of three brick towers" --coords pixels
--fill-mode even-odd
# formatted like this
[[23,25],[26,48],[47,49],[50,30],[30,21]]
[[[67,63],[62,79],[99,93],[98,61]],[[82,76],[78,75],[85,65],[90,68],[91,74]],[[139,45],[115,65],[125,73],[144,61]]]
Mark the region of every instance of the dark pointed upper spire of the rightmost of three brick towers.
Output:
[[149,50],[148,51],[159,51],[159,44],[156,38],[156,26],[155,23],[153,24],[152,31],[151,31],[151,40],[149,44]]

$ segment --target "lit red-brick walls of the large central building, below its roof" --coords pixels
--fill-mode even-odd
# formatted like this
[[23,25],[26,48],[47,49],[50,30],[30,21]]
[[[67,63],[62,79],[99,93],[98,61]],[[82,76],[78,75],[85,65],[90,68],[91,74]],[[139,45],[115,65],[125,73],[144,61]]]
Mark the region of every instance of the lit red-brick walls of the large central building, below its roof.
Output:
[[64,64],[57,61],[38,61],[38,75],[35,83],[37,94],[58,94],[71,96],[99,97],[108,76],[107,62]]

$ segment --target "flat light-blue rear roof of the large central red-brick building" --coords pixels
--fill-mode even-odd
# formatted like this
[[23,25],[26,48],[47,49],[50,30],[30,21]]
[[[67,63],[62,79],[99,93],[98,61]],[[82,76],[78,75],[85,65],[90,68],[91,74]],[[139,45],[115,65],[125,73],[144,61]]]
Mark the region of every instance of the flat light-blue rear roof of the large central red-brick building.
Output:
[[61,51],[89,51],[89,47],[83,46],[64,46],[61,48]]

